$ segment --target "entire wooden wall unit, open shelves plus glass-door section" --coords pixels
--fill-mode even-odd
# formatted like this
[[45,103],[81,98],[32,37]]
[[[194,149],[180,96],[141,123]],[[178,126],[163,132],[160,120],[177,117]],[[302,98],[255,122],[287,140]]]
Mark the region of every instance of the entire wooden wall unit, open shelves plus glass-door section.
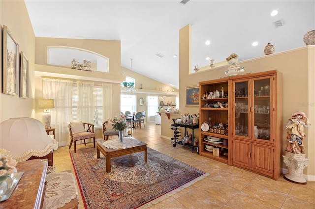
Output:
[[[207,91],[223,98],[202,98]],[[281,174],[282,74],[277,70],[199,82],[200,127],[223,123],[227,134],[200,129],[199,154],[277,180]],[[216,108],[206,104],[227,103]],[[209,117],[211,120],[209,121]],[[227,146],[204,140],[207,136],[227,139]],[[213,156],[205,144],[219,147],[227,156]]]

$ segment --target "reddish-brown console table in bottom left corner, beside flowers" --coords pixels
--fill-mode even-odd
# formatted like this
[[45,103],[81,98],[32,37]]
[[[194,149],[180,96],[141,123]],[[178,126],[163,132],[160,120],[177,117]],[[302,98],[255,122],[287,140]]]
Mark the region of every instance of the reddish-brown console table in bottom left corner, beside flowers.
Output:
[[45,208],[47,163],[41,159],[18,162],[18,172],[24,171],[21,180],[8,200],[2,201],[0,209]]

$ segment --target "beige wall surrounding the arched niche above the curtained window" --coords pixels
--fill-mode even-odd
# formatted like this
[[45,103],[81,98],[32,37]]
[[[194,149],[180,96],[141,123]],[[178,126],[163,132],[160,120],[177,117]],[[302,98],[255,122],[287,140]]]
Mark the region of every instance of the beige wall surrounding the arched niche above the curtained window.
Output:
[[[106,56],[110,60],[109,72],[90,72],[47,65],[48,46],[81,48]],[[69,62],[70,61],[71,60],[69,60]],[[120,104],[120,83],[122,80],[124,80],[124,77],[120,75],[120,41],[36,37],[35,63],[36,75],[52,78],[69,78],[76,80],[93,80],[95,82],[112,83],[113,104]],[[41,85],[38,86],[38,88],[39,89],[36,89],[35,98],[42,98]],[[39,109],[37,110],[40,111]],[[113,114],[116,112],[120,112],[119,105],[113,105]],[[38,115],[36,115],[36,118],[39,119]]]

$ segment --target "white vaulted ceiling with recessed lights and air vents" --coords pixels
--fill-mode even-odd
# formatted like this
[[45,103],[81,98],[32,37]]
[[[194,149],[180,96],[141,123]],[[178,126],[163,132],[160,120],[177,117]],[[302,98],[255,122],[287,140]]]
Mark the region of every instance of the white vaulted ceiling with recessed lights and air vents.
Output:
[[[191,25],[192,66],[305,46],[314,0],[25,0],[36,37],[121,40],[121,65],[179,87],[179,30]],[[273,10],[278,15],[271,16]],[[209,40],[210,44],[205,42]],[[257,46],[252,46],[257,42]],[[157,54],[163,55],[163,57]],[[173,57],[176,54],[177,57]],[[206,60],[206,58],[209,60]]]

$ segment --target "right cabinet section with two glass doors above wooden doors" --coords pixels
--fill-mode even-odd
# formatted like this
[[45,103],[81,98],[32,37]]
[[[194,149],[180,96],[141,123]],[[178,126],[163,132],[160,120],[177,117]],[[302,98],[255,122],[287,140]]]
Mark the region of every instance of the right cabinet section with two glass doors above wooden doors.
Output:
[[277,71],[232,80],[233,165],[277,180],[281,174],[281,75]]

